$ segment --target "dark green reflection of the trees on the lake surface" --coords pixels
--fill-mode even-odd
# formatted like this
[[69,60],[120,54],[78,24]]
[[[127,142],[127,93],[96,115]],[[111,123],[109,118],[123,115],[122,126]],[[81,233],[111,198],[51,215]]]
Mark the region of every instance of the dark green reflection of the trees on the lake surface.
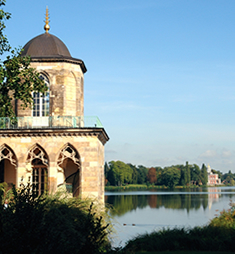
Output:
[[106,196],[106,203],[113,206],[111,215],[121,216],[132,210],[150,208],[198,210],[208,207],[208,195],[175,194],[175,195],[117,195]]

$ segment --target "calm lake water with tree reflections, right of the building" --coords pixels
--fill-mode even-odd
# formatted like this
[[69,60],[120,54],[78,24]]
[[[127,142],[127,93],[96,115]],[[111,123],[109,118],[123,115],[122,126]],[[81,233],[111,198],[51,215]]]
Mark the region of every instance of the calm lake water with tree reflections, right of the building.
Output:
[[180,189],[175,191],[106,192],[113,209],[113,246],[123,246],[138,234],[161,228],[207,224],[235,201],[235,187]]

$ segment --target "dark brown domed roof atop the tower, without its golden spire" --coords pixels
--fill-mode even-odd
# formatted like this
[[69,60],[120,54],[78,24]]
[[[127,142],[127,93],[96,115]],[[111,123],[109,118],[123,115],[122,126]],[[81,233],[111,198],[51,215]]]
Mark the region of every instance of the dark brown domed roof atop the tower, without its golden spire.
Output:
[[34,37],[24,47],[22,56],[71,57],[66,45],[55,35],[44,33]]

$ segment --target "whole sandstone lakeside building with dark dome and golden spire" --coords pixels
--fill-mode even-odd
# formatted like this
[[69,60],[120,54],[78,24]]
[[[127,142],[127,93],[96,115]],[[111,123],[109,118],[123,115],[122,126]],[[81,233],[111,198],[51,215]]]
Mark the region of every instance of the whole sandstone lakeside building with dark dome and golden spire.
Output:
[[74,196],[103,201],[109,137],[97,117],[84,116],[85,64],[49,33],[48,11],[44,28],[22,55],[31,56],[48,92],[33,93],[33,108],[14,101],[16,122],[0,119],[0,182],[31,183],[38,194],[64,185]]

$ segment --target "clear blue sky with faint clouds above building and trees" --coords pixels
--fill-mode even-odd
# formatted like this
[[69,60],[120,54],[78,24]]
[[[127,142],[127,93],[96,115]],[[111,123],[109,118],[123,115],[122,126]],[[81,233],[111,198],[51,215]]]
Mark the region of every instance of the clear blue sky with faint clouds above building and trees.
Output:
[[7,0],[12,46],[44,33],[46,6],[49,32],[87,67],[107,162],[235,173],[234,0]]

